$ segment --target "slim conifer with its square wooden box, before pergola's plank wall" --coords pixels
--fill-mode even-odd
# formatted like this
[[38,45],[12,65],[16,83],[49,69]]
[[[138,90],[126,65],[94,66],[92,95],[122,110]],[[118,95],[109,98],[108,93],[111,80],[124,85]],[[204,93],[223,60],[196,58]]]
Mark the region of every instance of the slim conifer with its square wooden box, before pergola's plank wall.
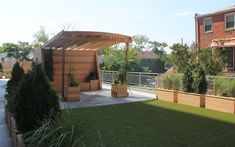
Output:
[[65,86],[65,100],[77,101],[80,100],[80,87],[79,83],[75,80],[73,68],[69,65],[67,74],[67,85]]

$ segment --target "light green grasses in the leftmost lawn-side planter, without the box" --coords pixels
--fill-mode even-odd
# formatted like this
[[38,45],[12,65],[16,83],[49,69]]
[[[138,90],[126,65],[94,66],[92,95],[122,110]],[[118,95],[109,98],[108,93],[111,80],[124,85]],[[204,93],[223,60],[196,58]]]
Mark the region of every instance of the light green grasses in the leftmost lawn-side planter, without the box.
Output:
[[179,90],[181,87],[182,75],[178,73],[167,73],[163,77],[164,89]]

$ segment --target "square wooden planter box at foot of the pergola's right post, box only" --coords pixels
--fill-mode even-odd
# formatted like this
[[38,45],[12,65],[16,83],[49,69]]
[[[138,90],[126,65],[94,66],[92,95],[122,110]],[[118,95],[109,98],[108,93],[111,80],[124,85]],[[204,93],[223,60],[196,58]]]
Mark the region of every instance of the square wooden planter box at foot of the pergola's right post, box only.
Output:
[[112,84],[112,97],[128,97],[127,84]]

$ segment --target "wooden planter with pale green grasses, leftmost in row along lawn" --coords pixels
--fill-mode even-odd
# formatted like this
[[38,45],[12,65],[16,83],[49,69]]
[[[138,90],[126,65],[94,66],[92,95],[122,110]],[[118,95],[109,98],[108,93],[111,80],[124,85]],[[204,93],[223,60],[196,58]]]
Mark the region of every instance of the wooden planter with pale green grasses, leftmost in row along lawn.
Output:
[[178,90],[181,85],[181,74],[167,73],[163,76],[163,88],[156,89],[158,100],[177,103]]

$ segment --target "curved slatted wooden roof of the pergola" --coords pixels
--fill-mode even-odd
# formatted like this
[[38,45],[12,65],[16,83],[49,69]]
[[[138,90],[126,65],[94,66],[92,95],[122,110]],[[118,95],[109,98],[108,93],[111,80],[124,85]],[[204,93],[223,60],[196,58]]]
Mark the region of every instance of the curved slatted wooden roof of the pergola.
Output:
[[43,48],[95,51],[118,43],[130,43],[132,39],[131,36],[107,32],[61,31]]

